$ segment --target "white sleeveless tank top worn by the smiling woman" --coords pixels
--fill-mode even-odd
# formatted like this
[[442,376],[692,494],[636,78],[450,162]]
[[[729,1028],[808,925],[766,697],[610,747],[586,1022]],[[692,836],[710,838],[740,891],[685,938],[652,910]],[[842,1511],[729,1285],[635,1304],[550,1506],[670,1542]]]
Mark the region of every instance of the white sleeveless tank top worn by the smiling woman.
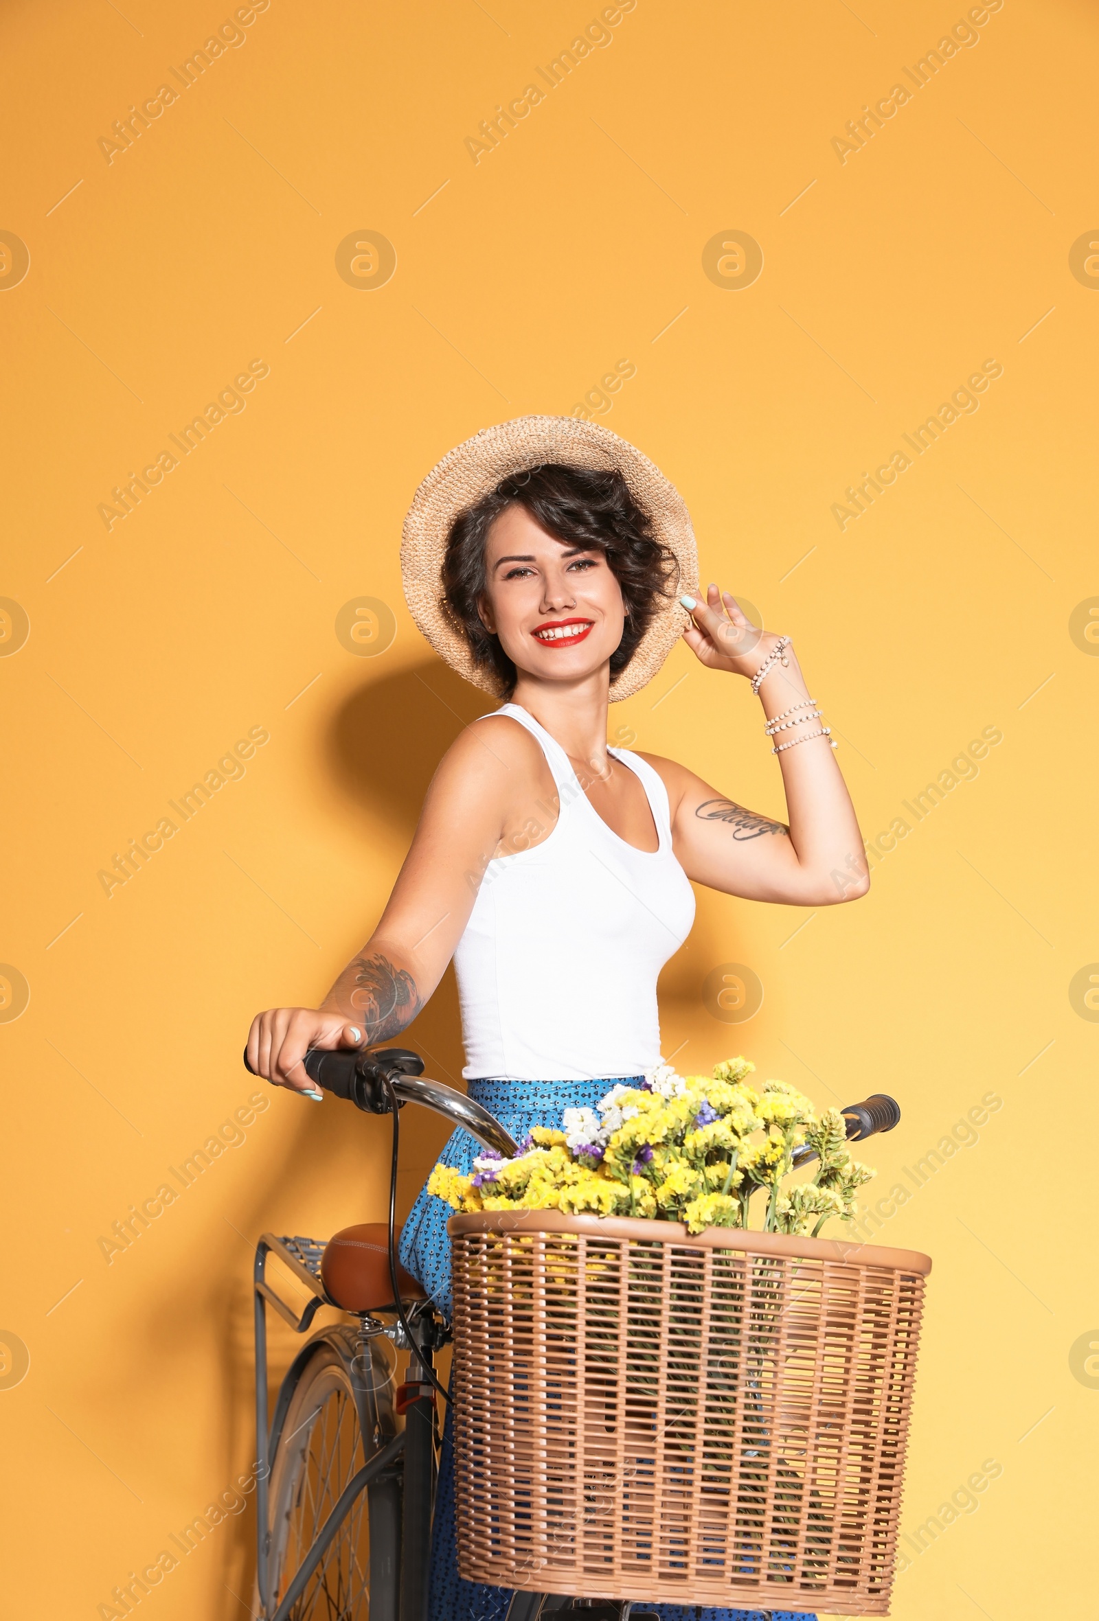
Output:
[[[541,845],[488,864],[454,952],[465,1080],[585,1081],[642,1075],[660,1062],[656,976],[694,922],[694,890],[671,849],[668,791],[627,749],[608,752],[645,789],[658,849],[613,833],[569,757],[517,704],[558,786]],[[546,825],[553,806],[540,802]]]

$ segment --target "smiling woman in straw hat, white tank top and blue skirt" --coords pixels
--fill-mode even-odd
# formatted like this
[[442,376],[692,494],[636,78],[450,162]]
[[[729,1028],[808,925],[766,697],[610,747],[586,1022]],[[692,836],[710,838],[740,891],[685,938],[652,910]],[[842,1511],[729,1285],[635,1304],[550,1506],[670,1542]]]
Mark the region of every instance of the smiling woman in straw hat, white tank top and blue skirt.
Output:
[[[468,1091],[522,1140],[660,1062],[656,976],[694,921],[692,882],[788,906],[854,900],[869,887],[862,836],[789,640],[750,626],[716,585],[691,595],[682,501],[606,430],[535,417],[459,446],[417,494],[402,562],[428,640],[507,702],[441,760],[361,953],[319,1008],[258,1015],[248,1059],[319,1096],[305,1052],[391,1042],[454,958]],[[707,669],[752,682],[788,822],[674,760],[608,747],[608,702],[644,686],[681,634]],[[723,702],[715,691],[715,721]],[[459,1131],[441,1157],[468,1170],[475,1153]],[[447,1216],[420,1193],[400,1240],[444,1311]],[[447,1412],[430,1613],[494,1621],[511,1595],[457,1574],[452,1467]]]

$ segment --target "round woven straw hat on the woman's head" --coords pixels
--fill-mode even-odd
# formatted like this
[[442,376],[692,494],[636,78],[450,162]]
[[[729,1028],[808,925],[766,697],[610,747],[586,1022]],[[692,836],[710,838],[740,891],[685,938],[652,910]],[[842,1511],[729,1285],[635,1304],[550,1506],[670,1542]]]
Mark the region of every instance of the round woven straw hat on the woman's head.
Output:
[[[647,456],[616,433],[579,417],[517,417],[459,444],[431,468],[408,509],[400,545],[405,601],[436,653],[460,676],[501,697],[493,674],[473,665],[468,642],[446,618],[441,569],[451,525],[512,473],[550,462],[622,475],[637,506],[679,564],[676,597],[697,597],[699,558],[682,496]],[[611,699],[627,699],[656,674],[679,640],[687,614],[673,597],[661,603],[626,669],[611,682]]]

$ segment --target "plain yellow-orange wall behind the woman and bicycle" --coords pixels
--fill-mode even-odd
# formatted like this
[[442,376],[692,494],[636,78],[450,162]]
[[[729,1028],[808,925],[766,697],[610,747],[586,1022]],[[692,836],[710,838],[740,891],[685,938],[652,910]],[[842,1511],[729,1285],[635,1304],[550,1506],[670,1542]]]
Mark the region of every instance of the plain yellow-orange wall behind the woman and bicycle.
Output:
[[[1005,0],[916,89],[903,68],[961,3],[637,0],[470,149],[598,10],[5,8],[6,1613],[97,1615],[248,1467],[254,1237],[381,1216],[386,1127],[269,1093],[240,1049],[363,942],[434,760],[486,707],[404,608],[418,480],[588,391],[684,493],[703,579],[794,637],[866,833],[911,825],[857,906],[702,895],[665,1052],[742,1049],[822,1104],[893,1093],[874,1198],[1002,1099],[887,1206],[887,1242],[935,1260],[906,1532],[1002,1465],[893,1613],[1089,1613],[1099,263],[1071,254],[1099,243],[1094,8]],[[182,89],[169,70],[225,19],[243,44]],[[165,83],[141,138],[104,144]],[[909,102],[836,148],[898,83]],[[703,271],[731,232],[762,246],[752,285]],[[365,233],[396,248],[384,285],[350,250],[337,272]],[[841,527],[848,485],[986,360],[979,410]],[[245,408],[107,527],[112,490],[251,361]],[[373,657],[336,631],[361,597],[396,622]],[[781,810],[746,684],[686,648],[619,726]],[[97,874],[253,728],[246,775],[107,895]],[[903,802],[982,728],[1002,742],[917,822]],[[741,1026],[700,995],[729,963],[765,990]],[[449,981],[408,1039],[459,1073]],[[245,1141],[107,1255],[253,1093]],[[405,1208],[443,1135],[407,1117]],[[243,1618],[250,1538],[250,1514],[220,1525],[149,1613]]]

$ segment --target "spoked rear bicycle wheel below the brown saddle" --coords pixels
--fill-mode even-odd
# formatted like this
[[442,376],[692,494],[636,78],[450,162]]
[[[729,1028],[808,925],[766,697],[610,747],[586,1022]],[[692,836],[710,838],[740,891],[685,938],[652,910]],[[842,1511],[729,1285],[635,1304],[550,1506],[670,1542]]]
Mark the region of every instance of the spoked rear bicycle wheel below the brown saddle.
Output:
[[[276,1436],[267,1616],[276,1615],[344,1488],[394,1433],[384,1357],[376,1352],[363,1367],[363,1358],[355,1360],[353,1332],[345,1329],[316,1341]],[[360,1491],[289,1621],[397,1621],[399,1546],[400,1478],[394,1465]]]

